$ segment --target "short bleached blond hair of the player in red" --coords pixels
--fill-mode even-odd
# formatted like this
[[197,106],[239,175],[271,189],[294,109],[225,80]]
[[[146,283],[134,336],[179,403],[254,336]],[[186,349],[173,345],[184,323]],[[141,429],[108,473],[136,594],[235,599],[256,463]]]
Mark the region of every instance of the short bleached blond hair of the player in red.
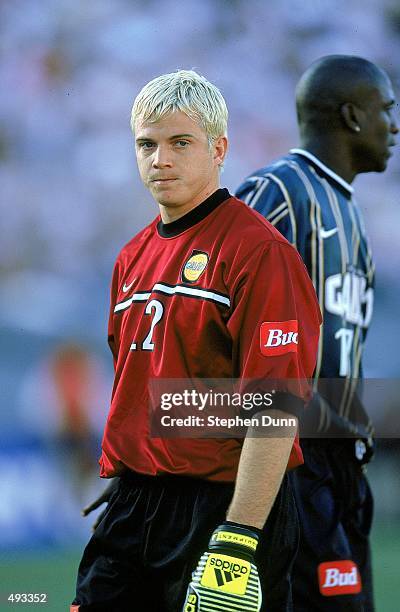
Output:
[[199,123],[211,144],[225,136],[228,109],[220,90],[194,70],[177,70],[153,79],[137,95],[131,114],[135,133],[137,120],[155,122],[181,111]]

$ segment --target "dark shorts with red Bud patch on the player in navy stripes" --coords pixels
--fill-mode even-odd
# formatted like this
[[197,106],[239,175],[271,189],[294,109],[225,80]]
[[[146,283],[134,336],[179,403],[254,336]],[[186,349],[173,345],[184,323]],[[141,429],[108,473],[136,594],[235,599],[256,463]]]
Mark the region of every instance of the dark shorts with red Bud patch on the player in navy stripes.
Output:
[[373,612],[373,503],[362,468],[346,441],[304,441],[302,449],[305,463],[290,474],[300,522],[294,610]]

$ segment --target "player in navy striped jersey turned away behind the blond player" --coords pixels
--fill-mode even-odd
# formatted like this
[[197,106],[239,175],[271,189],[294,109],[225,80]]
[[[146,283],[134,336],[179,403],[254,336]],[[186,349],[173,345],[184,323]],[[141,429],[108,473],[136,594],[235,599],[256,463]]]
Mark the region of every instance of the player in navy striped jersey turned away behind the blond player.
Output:
[[374,266],[351,183],[382,172],[398,132],[388,76],[353,56],[315,62],[296,91],[300,148],[261,168],[237,196],[298,249],[323,312],[313,400],[301,420],[305,464],[291,476],[301,540],[297,612],[374,609],[364,476],[373,428],[360,401]]

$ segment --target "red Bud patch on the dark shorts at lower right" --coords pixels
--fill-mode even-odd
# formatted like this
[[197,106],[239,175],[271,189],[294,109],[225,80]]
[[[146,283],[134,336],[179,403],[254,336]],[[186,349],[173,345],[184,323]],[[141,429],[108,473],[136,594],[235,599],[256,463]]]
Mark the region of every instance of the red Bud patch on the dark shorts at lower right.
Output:
[[327,561],[318,566],[321,595],[354,595],[361,591],[361,578],[357,565],[350,560]]

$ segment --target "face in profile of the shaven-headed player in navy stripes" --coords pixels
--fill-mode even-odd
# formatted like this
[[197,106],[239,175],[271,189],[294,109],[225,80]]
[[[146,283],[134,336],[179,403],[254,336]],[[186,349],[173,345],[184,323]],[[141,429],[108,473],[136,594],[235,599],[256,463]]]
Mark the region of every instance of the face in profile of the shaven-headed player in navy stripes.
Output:
[[399,131],[394,116],[394,93],[388,78],[382,76],[374,87],[369,88],[362,108],[364,120],[355,139],[354,151],[359,172],[383,172]]

